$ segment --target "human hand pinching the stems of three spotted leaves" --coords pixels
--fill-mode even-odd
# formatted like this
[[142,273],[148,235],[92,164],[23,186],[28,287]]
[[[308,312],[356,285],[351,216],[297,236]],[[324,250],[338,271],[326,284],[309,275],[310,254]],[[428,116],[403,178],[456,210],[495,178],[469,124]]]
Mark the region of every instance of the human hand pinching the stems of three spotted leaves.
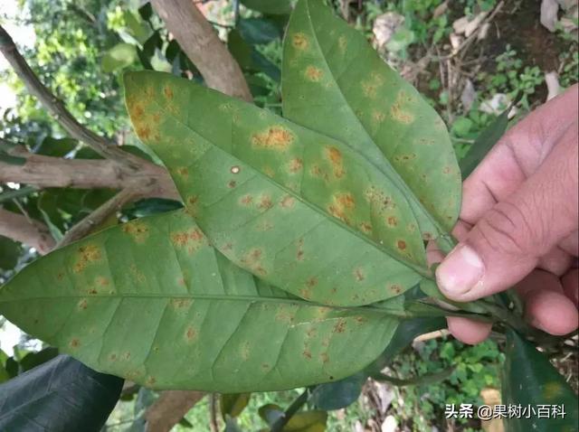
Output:
[[[530,324],[552,334],[577,328],[578,86],[511,128],[463,183],[459,245],[436,270],[459,302],[514,286]],[[449,330],[479,343],[490,324],[449,317]]]

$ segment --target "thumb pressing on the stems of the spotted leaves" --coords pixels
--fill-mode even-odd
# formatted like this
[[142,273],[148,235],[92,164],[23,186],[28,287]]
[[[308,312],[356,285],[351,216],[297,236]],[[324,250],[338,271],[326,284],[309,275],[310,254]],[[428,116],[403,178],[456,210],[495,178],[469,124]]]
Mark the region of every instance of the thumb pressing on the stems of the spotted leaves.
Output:
[[470,301],[507,289],[577,229],[577,124],[515,193],[495,204],[436,270],[441,291]]

